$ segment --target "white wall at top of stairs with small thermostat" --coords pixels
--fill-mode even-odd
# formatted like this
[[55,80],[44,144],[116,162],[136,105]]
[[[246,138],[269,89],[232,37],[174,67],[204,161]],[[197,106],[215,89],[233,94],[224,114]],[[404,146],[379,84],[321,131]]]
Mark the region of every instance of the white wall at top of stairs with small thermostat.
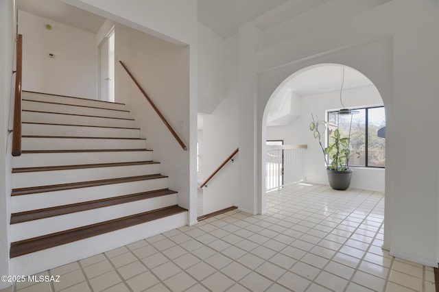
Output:
[[96,99],[96,35],[21,10],[19,21],[23,90]]

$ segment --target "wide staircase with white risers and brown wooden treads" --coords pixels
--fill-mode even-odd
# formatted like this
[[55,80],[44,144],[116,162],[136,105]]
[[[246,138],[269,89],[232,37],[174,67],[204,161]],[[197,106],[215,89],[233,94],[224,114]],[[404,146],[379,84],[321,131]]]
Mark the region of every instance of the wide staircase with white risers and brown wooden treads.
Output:
[[10,274],[30,275],[187,224],[124,104],[23,92]]

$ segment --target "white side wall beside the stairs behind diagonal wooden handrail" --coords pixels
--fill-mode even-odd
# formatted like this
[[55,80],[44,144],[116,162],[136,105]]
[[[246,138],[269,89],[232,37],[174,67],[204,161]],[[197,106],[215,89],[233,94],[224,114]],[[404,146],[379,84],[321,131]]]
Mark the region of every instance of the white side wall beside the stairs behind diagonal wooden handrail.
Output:
[[172,136],[123,69],[125,64],[178,136],[189,142],[189,49],[136,29],[116,24],[116,101],[127,104],[132,117],[169,175],[169,188],[178,191],[178,204],[189,208],[189,152]]

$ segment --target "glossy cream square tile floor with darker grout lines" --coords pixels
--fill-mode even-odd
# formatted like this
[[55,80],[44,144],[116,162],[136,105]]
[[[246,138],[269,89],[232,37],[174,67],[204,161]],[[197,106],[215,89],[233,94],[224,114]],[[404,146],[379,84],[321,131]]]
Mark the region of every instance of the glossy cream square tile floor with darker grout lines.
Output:
[[434,270],[383,243],[382,193],[296,184],[266,215],[236,210],[42,273],[3,291],[435,291]]

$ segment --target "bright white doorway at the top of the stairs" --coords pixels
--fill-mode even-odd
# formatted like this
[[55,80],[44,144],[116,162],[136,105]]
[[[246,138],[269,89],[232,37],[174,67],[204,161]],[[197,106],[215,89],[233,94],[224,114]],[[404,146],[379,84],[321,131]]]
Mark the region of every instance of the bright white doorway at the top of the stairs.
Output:
[[115,102],[115,27],[99,45],[99,100]]

